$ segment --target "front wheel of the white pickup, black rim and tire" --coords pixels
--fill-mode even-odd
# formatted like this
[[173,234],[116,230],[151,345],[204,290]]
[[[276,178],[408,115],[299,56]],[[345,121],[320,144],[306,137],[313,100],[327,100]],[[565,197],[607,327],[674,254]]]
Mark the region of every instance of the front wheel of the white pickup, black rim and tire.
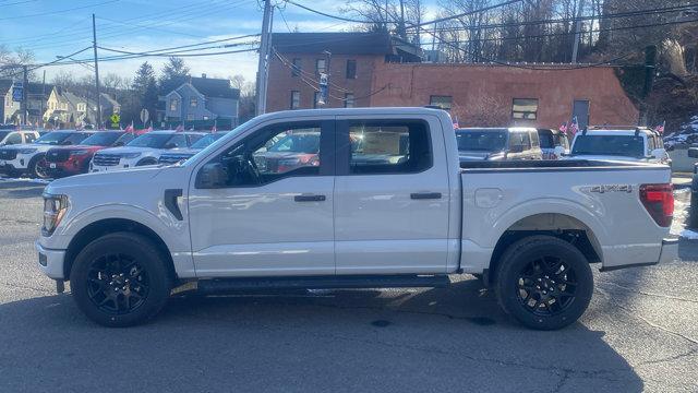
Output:
[[146,237],[105,235],[75,258],[70,284],[77,307],[104,326],[143,323],[167,303],[171,278],[166,260]]

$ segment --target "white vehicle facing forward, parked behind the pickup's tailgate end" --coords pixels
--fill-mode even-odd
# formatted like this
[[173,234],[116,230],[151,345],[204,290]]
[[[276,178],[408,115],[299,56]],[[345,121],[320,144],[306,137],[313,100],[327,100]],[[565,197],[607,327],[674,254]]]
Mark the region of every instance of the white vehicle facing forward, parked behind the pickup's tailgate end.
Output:
[[660,134],[648,128],[589,128],[577,132],[568,158],[670,164]]

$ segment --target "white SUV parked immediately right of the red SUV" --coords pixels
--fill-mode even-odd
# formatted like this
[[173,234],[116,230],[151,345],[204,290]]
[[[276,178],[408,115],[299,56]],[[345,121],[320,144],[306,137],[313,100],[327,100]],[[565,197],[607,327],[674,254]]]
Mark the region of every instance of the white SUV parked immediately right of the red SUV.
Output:
[[151,131],[122,147],[99,151],[89,164],[89,171],[107,171],[157,164],[163,153],[190,147],[206,135],[205,132]]

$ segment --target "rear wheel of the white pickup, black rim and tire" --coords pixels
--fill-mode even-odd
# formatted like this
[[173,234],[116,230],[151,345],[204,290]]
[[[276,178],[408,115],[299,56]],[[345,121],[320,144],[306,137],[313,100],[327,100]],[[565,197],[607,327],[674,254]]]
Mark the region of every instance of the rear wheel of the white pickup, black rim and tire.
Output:
[[593,294],[585,255],[552,236],[531,236],[509,246],[495,274],[504,311],[535,330],[562,329],[577,321]]

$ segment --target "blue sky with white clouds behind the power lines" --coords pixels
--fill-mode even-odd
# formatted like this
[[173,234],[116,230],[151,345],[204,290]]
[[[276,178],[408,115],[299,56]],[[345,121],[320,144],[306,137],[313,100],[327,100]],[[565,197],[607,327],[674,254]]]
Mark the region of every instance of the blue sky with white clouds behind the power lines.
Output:
[[[351,23],[310,13],[281,0],[281,11],[275,12],[274,32],[349,31]],[[297,0],[299,3],[330,14],[339,14],[344,1]],[[57,60],[92,46],[92,14],[96,15],[99,46],[130,52],[191,45],[207,40],[255,34],[261,31],[262,10],[257,0],[0,0],[0,45],[9,49],[22,47],[34,51],[37,63]],[[256,38],[241,38],[249,43]],[[220,44],[216,44],[220,45]],[[250,48],[217,48],[229,51]],[[99,58],[115,56],[99,49]],[[85,50],[73,59],[92,59]],[[166,58],[139,58],[103,61],[99,73],[117,73],[132,78],[143,61],[156,70]],[[253,81],[256,52],[228,53],[213,57],[186,58],[192,75],[206,73],[209,78],[242,74]],[[75,75],[93,73],[86,66],[47,67],[47,81],[60,70]],[[40,70],[38,71],[40,74]]]

